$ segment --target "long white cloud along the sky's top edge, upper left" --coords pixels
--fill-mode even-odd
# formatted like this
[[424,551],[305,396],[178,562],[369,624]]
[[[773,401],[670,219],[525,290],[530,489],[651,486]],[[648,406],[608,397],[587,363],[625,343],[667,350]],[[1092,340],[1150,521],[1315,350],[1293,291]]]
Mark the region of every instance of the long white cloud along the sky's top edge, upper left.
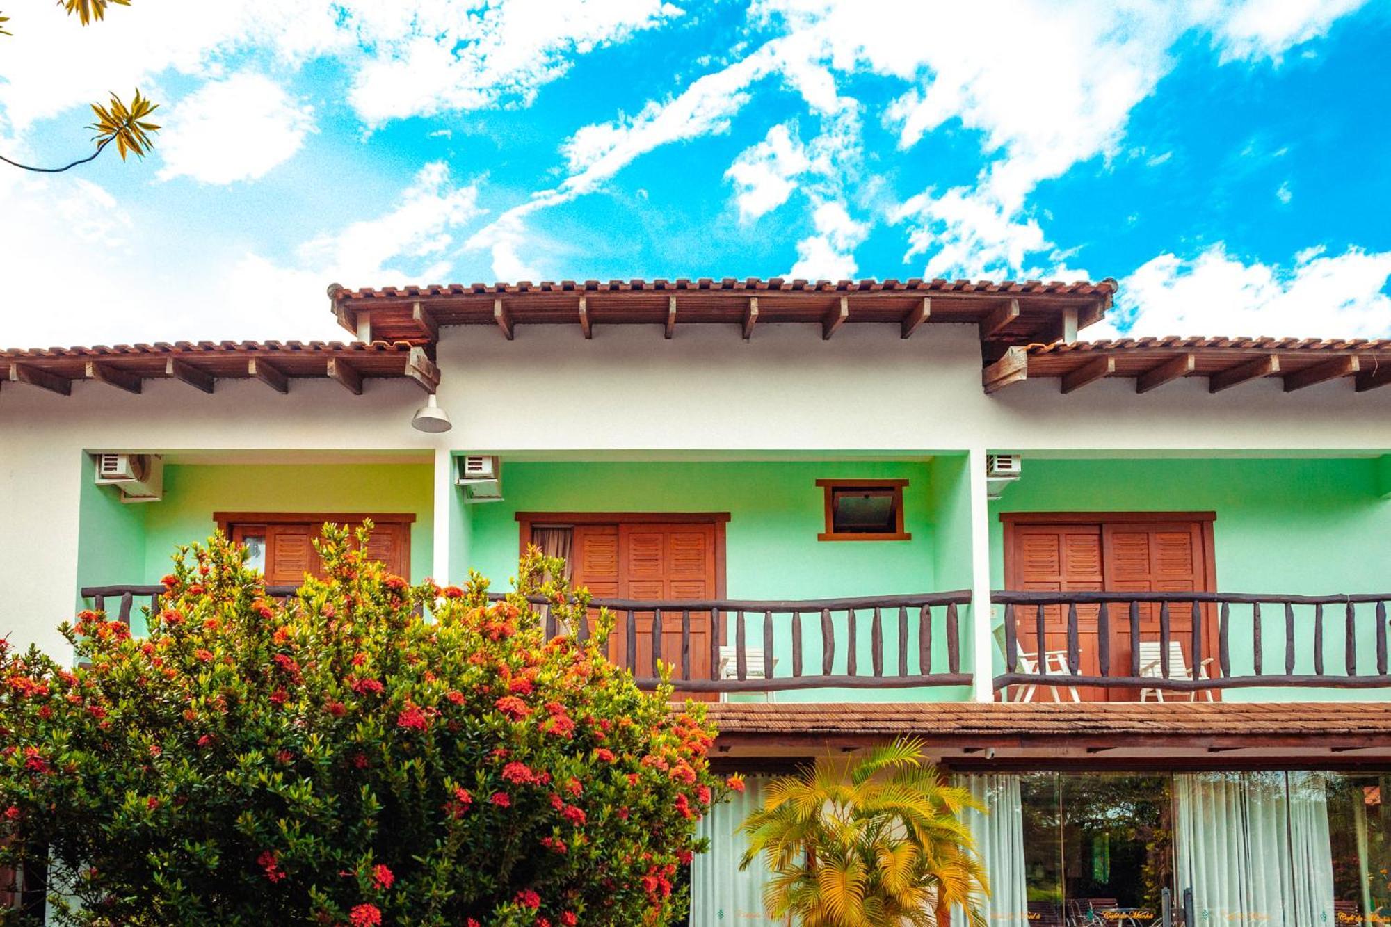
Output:
[[369,125],[527,104],[576,56],[680,15],[662,0],[140,0],[83,29],[33,6],[13,14],[22,40],[0,56],[0,113],[22,131],[111,88],[150,90],[167,71],[216,78],[246,50],[289,67],[342,61]]

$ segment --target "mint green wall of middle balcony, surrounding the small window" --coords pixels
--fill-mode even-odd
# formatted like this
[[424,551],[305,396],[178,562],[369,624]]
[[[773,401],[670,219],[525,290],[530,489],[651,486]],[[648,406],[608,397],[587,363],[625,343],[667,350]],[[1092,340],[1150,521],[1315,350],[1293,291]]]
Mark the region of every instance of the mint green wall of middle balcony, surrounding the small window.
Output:
[[[516,573],[517,511],[712,511],[729,512],[726,578],[730,599],[818,599],[933,592],[939,587],[938,512],[933,464],[919,462],[634,462],[508,464],[505,501],[470,505],[470,565],[509,587]],[[907,541],[818,541],[825,528],[818,479],[908,479],[904,491]],[[946,560],[954,568],[953,558]],[[462,571],[463,564],[453,568]],[[783,617],[780,621],[790,621]],[[868,674],[869,615],[861,615],[860,671]],[[938,640],[943,640],[939,617]],[[751,617],[748,635],[761,640],[762,618]],[[896,626],[894,626],[896,628]],[[896,629],[886,628],[886,664],[896,665]],[[780,633],[780,665],[790,661],[790,628]],[[808,632],[804,665],[819,665],[819,625]],[[917,631],[910,653],[917,649]],[[940,649],[940,647],[939,647]],[[837,664],[843,665],[840,657]],[[944,667],[944,664],[943,664]],[[943,699],[954,689],[897,693],[837,692],[779,695],[782,700]]]

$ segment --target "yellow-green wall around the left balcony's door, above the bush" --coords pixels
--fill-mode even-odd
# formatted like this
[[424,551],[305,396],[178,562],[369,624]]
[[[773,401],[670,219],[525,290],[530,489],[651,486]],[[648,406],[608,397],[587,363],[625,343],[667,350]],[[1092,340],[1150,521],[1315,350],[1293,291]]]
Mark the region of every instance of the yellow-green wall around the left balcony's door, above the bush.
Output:
[[179,544],[206,540],[216,511],[415,512],[410,572],[430,575],[434,550],[430,464],[174,465],[164,501],[145,505],[143,579],[168,572]]

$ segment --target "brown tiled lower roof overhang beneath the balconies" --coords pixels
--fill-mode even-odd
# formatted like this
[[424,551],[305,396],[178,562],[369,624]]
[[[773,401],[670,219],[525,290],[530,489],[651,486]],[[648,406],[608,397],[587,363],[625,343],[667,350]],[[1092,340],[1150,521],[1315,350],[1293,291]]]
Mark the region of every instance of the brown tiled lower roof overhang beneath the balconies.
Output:
[[912,736],[950,768],[1391,768],[1391,703],[719,703],[722,766]]

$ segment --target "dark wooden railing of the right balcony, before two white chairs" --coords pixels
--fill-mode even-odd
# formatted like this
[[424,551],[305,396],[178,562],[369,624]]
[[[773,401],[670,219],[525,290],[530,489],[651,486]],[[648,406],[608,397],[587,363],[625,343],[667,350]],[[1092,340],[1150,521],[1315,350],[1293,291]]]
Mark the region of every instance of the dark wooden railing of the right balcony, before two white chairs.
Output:
[[997,690],[1391,686],[1391,593],[995,592],[990,599],[1004,605]]

